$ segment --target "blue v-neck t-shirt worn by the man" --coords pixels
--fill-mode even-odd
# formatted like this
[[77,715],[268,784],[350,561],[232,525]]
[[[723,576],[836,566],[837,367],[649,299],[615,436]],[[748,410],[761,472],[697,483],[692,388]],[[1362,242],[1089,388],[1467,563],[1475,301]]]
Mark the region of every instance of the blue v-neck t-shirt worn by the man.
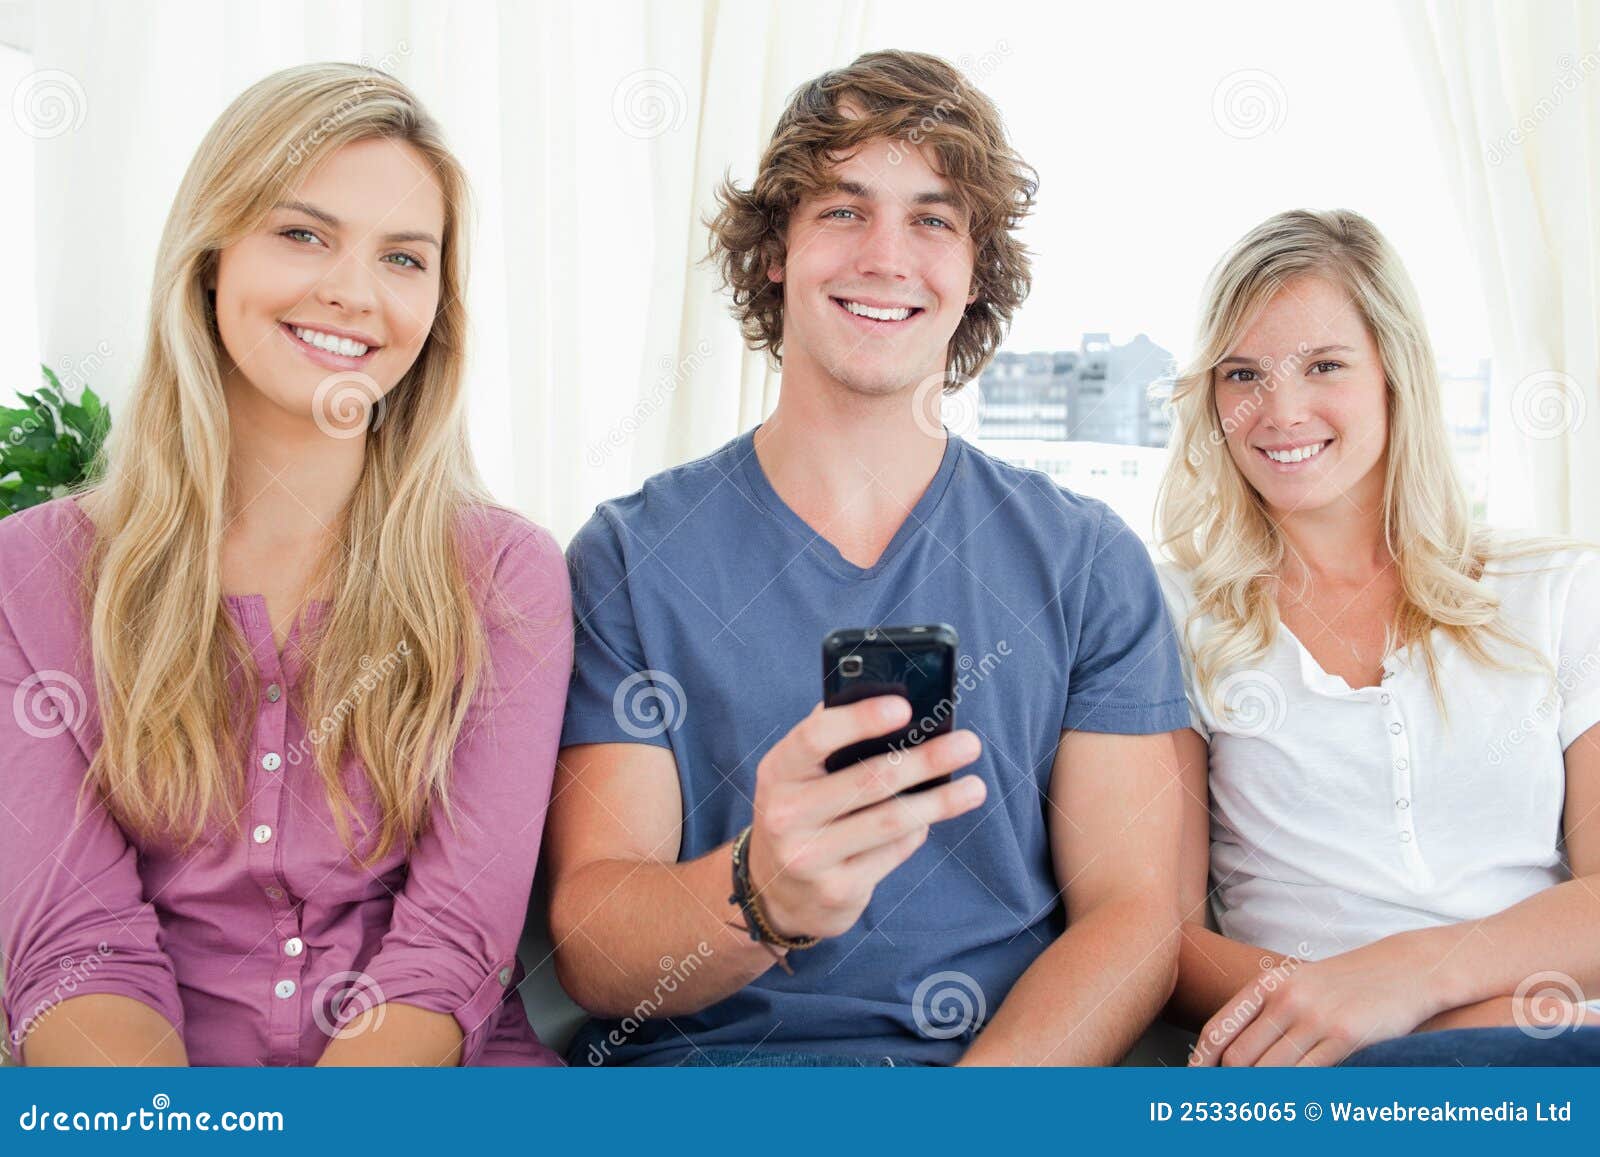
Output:
[[773,967],[693,1015],[590,1021],[574,1064],[677,1064],[720,1047],[954,1063],[1064,928],[1046,802],[1061,733],[1189,725],[1138,536],[1104,502],[957,435],[872,566],[784,504],[754,430],[600,504],[568,565],[562,744],[667,747],[680,859],[750,823],[757,763],[821,699],[822,637],[840,627],[955,627],[955,727],[982,739],[957,775],[989,787],[885,877],[856,927],[790,952],[794,976]]

